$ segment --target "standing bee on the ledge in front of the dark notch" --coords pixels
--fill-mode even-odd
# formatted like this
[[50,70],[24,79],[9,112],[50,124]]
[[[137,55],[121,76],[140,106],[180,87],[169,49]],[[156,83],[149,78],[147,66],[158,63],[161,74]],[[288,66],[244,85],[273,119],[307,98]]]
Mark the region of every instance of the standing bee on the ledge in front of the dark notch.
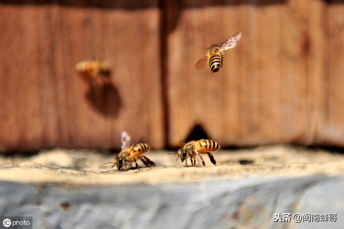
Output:
[[[178,158],[180,157],[181,161],[183,162],[185,160],[185,166],[187,165],[187,158],[190,157],[191,165],[196,165],[196,158],[200,158],[202,160],[203,166],[205,166],[205,163],[203,161],[201,154],[208,154],[210,161],[216,165],[216,161],[214,159],[213,154],[211,154],[209,151],[218,151],[221,150],[221,146],[213,140],[208,139],[201,139],[198,141],[189,141],[187,143],[180,142],[180,149],[178,150]],[[173,154],[168,153],[168,154]],[[177,158],[177,160],[178,160]],[[192,160],[194,159],[194,160]]]

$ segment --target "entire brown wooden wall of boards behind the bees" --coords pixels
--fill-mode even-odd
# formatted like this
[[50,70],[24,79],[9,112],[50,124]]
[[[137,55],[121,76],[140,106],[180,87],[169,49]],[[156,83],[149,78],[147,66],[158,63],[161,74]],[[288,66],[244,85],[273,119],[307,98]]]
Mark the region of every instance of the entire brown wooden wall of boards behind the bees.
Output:
[[[0,1],[0,151],[344,147],[344,1]],[[241,31],[224,67],[195,68]],[[73,68],[112,66],[94,93]]]

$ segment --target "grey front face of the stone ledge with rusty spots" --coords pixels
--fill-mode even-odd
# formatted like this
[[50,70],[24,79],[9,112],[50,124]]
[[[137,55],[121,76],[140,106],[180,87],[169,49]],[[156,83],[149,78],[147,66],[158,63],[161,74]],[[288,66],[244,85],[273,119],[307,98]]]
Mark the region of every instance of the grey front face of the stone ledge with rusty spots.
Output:
[[[33,228],[343,228],[344,177],[250,177],[195,183],[61,187],[0,182],[2,215]],[[273,222],[275,213],[337,222]]]

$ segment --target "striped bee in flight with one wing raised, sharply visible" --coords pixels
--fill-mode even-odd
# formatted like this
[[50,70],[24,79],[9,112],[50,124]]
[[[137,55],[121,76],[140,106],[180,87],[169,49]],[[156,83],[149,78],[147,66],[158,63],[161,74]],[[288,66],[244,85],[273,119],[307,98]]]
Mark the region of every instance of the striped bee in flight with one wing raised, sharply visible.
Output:
[[227,40],[219,45],[212,45],[207,53],[207,56],[198,60],[196,63],[197,68],[203,68],[205,66],[205,61],[208,60],[208,65],[212,72],[217,72],[223,66],[223,51],[234,48],[236,43],[239,41],[241,37],[241,32],[236,32],[230,35]]

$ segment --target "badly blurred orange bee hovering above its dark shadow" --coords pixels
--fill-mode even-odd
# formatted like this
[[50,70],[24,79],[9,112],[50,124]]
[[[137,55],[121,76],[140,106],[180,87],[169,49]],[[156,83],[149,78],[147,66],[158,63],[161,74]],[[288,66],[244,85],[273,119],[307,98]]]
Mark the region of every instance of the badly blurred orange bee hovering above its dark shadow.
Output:
[[111,68],[105,60],[83,60],[79,61],[74,71],[80,75],[86,82],[93,85],[97,80],[108,80],[111,74]]

